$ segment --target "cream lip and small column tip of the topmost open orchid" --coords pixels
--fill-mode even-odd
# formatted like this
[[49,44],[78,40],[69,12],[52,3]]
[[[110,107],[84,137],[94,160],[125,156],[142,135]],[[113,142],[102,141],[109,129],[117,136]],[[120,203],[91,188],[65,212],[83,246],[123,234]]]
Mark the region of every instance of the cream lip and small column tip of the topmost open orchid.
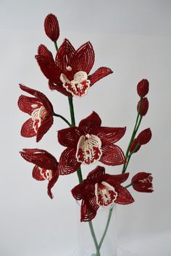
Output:
[[[71,71],[72,67],[68,66],[67,70]],[[88,75],[85,71],[78,71],[74,75],[73,80],[67,79],[63,73],[60,75],[62,86],[72,94],[72,96],[82,97],[87,94],[90,88],[91,81],[88,80]]]

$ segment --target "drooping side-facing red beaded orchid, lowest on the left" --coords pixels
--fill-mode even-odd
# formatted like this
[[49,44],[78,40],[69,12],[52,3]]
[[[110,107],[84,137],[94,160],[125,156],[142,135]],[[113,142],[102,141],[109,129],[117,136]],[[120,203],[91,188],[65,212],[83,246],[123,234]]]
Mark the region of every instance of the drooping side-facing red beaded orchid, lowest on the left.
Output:
[[49,181],[47,193],[52,199],[53,194],[51,193],[51,189],[59,177],[56,158],[43,149],[23,149],[20,154],[28,162],[35,164],[33,168],[33,178],[37,181]]

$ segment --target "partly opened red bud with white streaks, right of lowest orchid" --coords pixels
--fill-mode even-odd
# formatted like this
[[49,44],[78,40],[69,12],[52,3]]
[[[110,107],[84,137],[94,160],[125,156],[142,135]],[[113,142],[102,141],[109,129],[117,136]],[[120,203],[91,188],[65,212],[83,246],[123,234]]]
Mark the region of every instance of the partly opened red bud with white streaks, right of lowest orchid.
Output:
[[152,180],[151,173],[137,173],[133,176],[131,183],[136,191],[150,193],[154,191]]

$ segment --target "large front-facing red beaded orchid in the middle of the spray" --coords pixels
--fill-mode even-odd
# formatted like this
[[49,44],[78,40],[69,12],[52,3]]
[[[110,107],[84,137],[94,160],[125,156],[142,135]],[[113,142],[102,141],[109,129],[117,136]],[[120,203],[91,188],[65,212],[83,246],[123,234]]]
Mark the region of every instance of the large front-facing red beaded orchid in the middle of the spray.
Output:
[[101,126],[101,118],[96,112],[80,121],[78,127],[66,128],[58,132],[58,140],[67,149],[59,160],[61,175],[75,172],[80,165],[100,161],[105,165],[122,165],[125,155],[114,145],[125,134],[126,128]]

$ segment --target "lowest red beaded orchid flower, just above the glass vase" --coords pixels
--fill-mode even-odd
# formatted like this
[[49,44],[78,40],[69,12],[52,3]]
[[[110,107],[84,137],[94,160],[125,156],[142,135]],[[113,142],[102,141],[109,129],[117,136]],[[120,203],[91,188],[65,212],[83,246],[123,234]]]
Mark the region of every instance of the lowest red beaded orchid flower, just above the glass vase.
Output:
[[88,174],[83,183],[72,189],[72,195],[81,203],[81,221],[90,221],[96,216],[99,207],[128,205],[134,202],[130,192],[120,183],[128,179],[129,173],[119,175],[105,174],[105,169],[97,166]]

